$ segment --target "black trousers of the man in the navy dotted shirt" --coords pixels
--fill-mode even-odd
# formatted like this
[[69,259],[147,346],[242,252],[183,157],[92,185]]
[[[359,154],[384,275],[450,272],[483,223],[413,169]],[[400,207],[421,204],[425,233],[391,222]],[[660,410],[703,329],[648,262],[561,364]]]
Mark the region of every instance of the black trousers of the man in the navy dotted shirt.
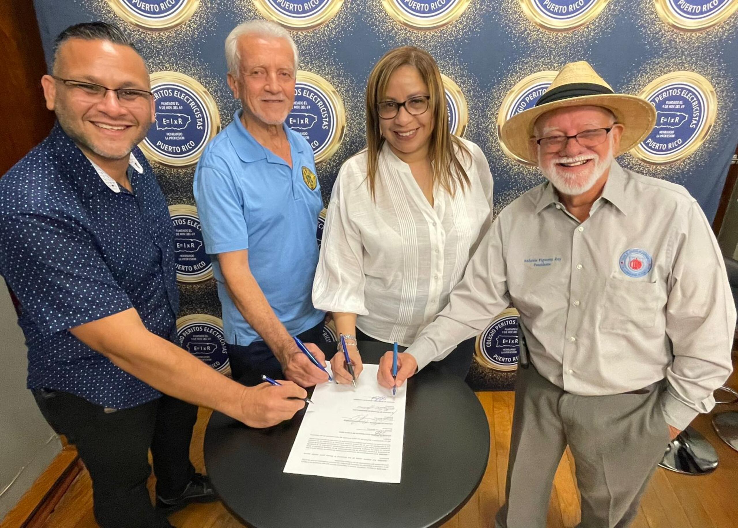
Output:
[[83,398],[36,389],[38,408],[58,434],[77,447],[92,477],[94,517],[101,528],[170,528],[151,504],[146,481],[154,458],[156,495],[176,498],[195,474],[190,440],[197,407],[162,396],[106,412]]

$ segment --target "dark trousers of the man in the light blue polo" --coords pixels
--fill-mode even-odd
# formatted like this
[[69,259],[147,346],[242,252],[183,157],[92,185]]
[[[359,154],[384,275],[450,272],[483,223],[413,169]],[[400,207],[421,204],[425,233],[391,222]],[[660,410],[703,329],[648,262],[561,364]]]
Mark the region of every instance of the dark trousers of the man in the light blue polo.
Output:
[[[303,343],[323,343],[323,321],[311,329],[298,334]],[[258,385],[263,383],[261,375],[266,374],[276,380],[283,379],[282,365],[261,340],[254,341],[250,345],[240,346],[228,343],[228,361],[234,380],[244,385]]]

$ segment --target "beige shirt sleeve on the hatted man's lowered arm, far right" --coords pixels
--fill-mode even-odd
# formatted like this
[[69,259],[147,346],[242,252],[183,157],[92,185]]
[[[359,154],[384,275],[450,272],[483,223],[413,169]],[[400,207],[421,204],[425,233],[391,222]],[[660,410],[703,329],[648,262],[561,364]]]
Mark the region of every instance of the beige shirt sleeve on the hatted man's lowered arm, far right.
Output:
[[704,213],[692,204],[675,234],[666,303],[666,335],[674,359],[666,368],[666,422],[683,430],[711,411],[712,393],[732,370],[736,310],[720,248]]

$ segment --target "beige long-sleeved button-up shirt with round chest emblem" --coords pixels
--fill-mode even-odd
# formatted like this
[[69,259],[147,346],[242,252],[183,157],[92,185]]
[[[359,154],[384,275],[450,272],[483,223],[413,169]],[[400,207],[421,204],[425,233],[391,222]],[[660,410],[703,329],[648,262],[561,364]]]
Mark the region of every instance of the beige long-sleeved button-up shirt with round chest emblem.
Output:
[[678,429],[713,408],[731,372],[736,311],[700,205],[616,162],[582,223],[548,182],[508,205],[407,352],[420,368],[440,360],[510,301],[551,383],[600,396],[666,378],[663,410]]

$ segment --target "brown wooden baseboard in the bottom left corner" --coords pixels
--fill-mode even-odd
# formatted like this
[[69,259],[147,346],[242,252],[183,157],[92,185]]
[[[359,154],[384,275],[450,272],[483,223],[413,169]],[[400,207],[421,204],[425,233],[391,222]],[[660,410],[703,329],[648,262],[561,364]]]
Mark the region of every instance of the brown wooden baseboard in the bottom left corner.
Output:
[[67,446],[36,479],[13,510],[0,522],[0,528],[38,528],[54,510],[72,481],[83,468],[77,450]]

